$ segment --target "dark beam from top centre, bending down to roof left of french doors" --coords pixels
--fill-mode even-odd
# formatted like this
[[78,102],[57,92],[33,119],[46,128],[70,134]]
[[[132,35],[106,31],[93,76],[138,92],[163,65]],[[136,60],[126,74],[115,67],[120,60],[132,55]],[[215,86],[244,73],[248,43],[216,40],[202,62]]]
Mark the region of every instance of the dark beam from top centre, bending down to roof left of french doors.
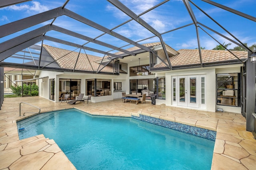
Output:
[[154,29],[153,27],[151,27],[146,21],[142,20],[140,17],[138,17],[134,12],[132,12],[132,10],[130,10],[129,8],[127,8],[124,4],[122,4],[120,1],[118,0],[108,0],[108,2],[110,2],[112,5],[114,5],[116,8],[118,8],[119,10],[121,10],[122,12],[124,12],[124,14],[128,15],[129,17],[131,17],[134,21],[138,22],[140,25],[142,25],[144,28],[148,29],[148,31],[150,31],[151,33],[153,33],[154,35],[156,35],[159,39],[160,42],[162,44],[163,50],[164,50],[164,54],[166,56],[166,59],[168,61],[169,64],[169,68],[172,70],[172,64],[170,62],[168,53],[166,51],[165,48],[165,44],[164,41],[162,39],[162,35],[156,31],[156,29]]

